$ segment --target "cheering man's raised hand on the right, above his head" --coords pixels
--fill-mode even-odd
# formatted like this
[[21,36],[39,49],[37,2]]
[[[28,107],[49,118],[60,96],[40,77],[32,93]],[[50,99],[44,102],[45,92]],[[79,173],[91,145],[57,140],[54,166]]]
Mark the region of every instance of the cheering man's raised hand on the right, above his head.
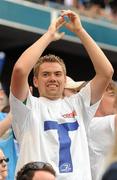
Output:
[[61,11],[61,17],[64,18],[64,16],[67,16],[69,18],[69,21],[66,21],[65,26],[72,32],[77,33],[80,29],[82,29],[82,24],[80,21],[80,18],[77,13],[71,11],[71,10],[62,10]]

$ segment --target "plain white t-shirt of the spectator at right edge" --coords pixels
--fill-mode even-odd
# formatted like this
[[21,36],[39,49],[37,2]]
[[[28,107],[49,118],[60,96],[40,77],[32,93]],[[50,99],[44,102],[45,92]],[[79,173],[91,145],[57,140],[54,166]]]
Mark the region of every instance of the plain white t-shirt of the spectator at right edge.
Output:
[[115,133],[115,115],[95,117],[88,128],[88,144],[92,180],[98,179],[103,169],[105,156],[109,152]]

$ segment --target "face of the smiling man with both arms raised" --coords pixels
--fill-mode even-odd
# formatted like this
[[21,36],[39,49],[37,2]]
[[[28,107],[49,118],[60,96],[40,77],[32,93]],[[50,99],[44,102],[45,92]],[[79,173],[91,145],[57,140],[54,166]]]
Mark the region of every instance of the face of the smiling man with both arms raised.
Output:
[[38,78],[34,78],[40,96],[51,100],[62,98],[65,82],[66,76],[59,63],[43,63],[39,68]]

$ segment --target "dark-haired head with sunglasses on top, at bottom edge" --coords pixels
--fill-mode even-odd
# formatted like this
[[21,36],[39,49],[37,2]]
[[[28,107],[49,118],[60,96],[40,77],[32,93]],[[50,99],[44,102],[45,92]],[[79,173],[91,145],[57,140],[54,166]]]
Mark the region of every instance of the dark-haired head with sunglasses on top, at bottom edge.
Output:
[[55,180],[56,173],[49,163],[30,162],[17,173],[16,180]]

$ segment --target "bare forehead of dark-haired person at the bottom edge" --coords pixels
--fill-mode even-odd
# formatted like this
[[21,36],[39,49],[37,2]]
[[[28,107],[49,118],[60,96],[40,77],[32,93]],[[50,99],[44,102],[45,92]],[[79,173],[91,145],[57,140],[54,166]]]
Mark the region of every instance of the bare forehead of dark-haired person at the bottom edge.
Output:
[[32,180],[55,180],[55,176],[47,171],[35,172]]

